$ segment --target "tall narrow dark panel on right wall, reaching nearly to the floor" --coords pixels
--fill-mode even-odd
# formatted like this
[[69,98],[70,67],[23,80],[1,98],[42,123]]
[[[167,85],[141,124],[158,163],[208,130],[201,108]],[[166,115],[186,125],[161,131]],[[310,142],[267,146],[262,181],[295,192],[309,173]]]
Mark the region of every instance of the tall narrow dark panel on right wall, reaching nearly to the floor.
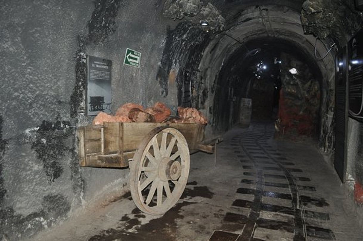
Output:
[[347,170],[348,81],[347,48],[335,58],[335,161],[334,168],[342,182]]

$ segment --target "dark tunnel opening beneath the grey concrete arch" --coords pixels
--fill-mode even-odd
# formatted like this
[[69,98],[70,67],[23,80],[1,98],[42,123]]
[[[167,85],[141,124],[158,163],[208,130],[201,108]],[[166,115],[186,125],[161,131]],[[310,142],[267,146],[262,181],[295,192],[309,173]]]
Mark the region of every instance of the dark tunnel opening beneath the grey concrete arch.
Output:
[[[241,100],[248,98],[252,119],[274,116],[289,126],[284,134],[298,129],[298,134],[312,136],[318,130],[322,74],[316,60],[294,42],[263,37],[241,44],[216,83],[213,117],[218,128],[238,123]],[[280,92],[284,98],[279,102]],[[304,123],[295,125],[295,120]]]

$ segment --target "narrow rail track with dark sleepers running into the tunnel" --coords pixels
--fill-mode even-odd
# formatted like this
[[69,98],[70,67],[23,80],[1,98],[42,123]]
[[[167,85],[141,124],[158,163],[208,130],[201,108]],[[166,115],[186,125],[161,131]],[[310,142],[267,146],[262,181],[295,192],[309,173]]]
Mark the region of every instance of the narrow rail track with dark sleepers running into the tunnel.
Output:
[[[307,204],[319,207],[329,204],[323,198],[306,195],[314,194],[316,188],[309,185],[310,178],[295,167],[293,160],[276,150],[271,141],[273,135],[273,125],[254,124],[246,132],[232,137],[233,152],[244,171],[241,187],[236,190],[241,195],[233,201],[233,212],[225,214],[224,222],[238,223],[243,227],[240,233],[217,231],[211,241],[336,239],[330,229],[309,223],[315,223],[315,220],[327,222],[330,216],[329,213],[306,209]],[[248,215],[234,212],[238,208],[248,209]]]

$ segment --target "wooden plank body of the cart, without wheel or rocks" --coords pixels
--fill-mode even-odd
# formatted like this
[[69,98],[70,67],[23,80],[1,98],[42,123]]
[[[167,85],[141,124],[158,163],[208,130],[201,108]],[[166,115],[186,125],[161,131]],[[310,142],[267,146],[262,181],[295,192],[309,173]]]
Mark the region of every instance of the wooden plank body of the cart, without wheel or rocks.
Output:
[[190,150],[201,149],[199,144],[203,140],[203,125],[194,123],[105,122],[103,125],[78,128],[79,165],[127,167],[128,161],[132,158],[140,142],[151,130],[160,126],[178,129],[187,140]]

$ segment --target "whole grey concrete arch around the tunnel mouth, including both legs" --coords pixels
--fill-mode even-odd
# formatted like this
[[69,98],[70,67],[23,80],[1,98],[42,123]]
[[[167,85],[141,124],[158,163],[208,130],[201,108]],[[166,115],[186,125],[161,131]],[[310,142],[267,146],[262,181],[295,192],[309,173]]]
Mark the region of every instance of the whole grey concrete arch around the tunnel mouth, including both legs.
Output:
[[[315,49],[318,57],[326,54],[325,44],[318,41],[315,45],[315,37],[304,34],[299,12],[280,6],[251,7],[231,19],[227,24],[228,29],[217,35],[209,43],[199,65],[202,78],[208,80],[210,93],[207,100],[209,103],[208,119],[211,120],[209,128],[212,131],[221,129],[221,127],[222,129],[225,128],[225,126],[219,126],[218,118],[216,118],[216,112],[219,110],[215,107],[215,97],[218,95],[217,92],[221,85],[219,78],[223,75],[224,66],[228,65],[228,61],[238,52],[238,49],[244,48],[242,45],[247,46],[248,43],[261,39],[280,39],[284,40],[285,43],[296,46],[307,59],[314,60],[313,67],[311,67],[311,64],[310,67],[315,69],[314,72],[318,73],[317,75],[321,80],[319,82],[321,89],[321,96],[319,96],[319,143],[324,152],[330,153],[333,148],[332,140],[334,140],[334,58],[331,54],[328,54],[322,60],[315,60],[314,58]],[[244,53],[241,50],[241,54],[246,55],[248,53],[247,49],[249,51],[253,50],[247,46],[247,48],[244,48]],[[228,93],[223,93],[223,98],[226,98]],[[224,109],[224,112],[227,115],[227,110]],[[224,121],[229,120],[229,117],[224,116],[223,118]]]

